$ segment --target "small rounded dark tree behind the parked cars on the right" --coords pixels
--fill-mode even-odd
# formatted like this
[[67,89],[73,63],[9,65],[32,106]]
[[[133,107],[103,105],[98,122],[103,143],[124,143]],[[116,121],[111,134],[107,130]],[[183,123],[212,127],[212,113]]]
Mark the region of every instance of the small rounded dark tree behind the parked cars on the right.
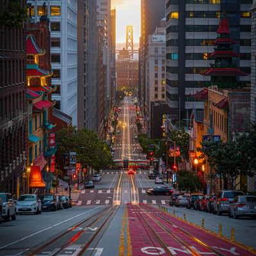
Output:
[[177,172],[177,184],[179,191],[196,192],[204,188],[198,175],[193,172],[180,170]]

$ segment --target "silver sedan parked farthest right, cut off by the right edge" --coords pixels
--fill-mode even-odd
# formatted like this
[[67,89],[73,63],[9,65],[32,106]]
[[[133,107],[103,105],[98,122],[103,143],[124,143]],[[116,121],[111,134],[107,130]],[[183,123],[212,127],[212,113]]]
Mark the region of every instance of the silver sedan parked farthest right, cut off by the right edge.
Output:
[[237,219],[241,216],[256,217],[256,196],[236,196],[230,202],[228,216]]

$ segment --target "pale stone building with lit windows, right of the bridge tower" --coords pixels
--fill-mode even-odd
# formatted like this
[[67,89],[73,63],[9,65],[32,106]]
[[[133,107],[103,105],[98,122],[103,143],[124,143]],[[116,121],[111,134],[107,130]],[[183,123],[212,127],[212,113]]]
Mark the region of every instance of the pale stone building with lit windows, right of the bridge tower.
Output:
[[[157,27],[148,36],[148,51],[145,56],[145,116],[151,116],[151,102],[165,100],[165,58],[166,58],[165,26]],[[150,127],[150,120],[146,118],[145,128]]]

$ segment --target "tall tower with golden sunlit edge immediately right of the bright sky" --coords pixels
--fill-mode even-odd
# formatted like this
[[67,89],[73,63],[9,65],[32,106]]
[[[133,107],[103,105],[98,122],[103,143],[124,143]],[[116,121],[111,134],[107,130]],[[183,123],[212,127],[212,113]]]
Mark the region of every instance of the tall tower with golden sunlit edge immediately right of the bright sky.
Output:
[[139,49],[139,86],[138,96],[141,109],[145,109],[145,55],[148,36],[154,33],[156,26],[165,17],[165,0],[141,0],[141,36]]

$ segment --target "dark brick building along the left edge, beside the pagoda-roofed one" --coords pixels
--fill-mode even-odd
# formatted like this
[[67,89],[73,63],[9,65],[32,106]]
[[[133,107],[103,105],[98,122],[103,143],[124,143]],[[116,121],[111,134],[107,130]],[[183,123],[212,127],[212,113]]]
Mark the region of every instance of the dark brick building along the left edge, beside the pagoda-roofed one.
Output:
[[[0,1],[1,10],[10,1]],[[20,7],[26,1],[20,1]],[[19,13],[19,10],[17,10]],[[18,19],[18,18],[17,18]],[[10,24],[13,24],[10,29]],[[28,116],[26,104],[26,31],[19,20],[1,23],[0,40],[0,190],[17,195],[24,192]]]

